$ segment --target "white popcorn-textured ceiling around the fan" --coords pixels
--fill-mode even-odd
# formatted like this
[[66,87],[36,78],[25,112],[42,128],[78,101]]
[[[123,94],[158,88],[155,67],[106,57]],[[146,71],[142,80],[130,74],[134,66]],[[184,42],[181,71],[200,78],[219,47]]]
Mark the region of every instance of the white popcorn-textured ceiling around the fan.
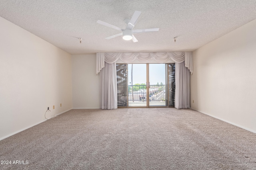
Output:
[[[97,20],[124,29],[135,10],[134,29],[159,31],[105,39],[120,31]],[[194,51],[256,19],[256,0],[0,0],[0,16],[70,54]]]

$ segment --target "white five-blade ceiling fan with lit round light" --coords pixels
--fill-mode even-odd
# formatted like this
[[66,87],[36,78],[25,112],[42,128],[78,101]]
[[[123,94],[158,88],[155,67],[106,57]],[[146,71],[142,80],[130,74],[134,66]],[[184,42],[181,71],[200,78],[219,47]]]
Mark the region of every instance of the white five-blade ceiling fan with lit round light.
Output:
[[106,39],[111,39],[114,37],[118,37],[120,35],[123,35],[123,39],[124,40],[131,40],[135,43],[138,42],[138,40],[134,37],[133,33],[144,33],[144,32],[154,32],[154,31],[158,31],[159,28],[150,28],[150,29],[133,29],[134,25],[137,23],[139,17],[140,17],[141,12],[140,11],[135,11],[131,20],[129,19],[125,19],[124,22],[126,23],[126,28],[125,29],[121,29],[119,27],[116,27],[114,25],[111,25],[109,23],[106,23],[104,21],[100,21],[98,20],[97,23],[100,23],[102,25],[105,25],[107,27],[111,27],[114,29],[117,29],[119,31],[122,31],[122,33],[116,34],[116,35],[112,35],[110,37],[106,37]]

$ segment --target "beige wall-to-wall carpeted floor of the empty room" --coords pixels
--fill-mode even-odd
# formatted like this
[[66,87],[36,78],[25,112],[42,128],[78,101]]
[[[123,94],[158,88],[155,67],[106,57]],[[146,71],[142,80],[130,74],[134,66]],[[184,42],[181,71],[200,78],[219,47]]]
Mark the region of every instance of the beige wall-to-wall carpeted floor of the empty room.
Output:
[[192,109],[73,109],[0,141],[0,160],[15,170],[253,170],[256,134]]

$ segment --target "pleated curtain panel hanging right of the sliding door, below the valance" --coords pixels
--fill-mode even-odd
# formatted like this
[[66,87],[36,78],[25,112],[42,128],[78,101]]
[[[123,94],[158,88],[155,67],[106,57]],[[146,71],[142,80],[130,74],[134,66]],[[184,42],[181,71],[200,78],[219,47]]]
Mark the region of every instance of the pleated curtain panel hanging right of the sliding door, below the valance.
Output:
[[190,107],[190,73],[185,67],[185,62],[175,63],[174,105],[177,109]]

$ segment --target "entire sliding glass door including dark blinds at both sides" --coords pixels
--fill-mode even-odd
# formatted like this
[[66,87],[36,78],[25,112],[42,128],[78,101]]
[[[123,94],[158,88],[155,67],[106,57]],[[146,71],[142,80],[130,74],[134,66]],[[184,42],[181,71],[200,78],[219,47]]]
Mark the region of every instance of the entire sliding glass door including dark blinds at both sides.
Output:
[[116,64],[118,107],[174,107],[175,64]]

